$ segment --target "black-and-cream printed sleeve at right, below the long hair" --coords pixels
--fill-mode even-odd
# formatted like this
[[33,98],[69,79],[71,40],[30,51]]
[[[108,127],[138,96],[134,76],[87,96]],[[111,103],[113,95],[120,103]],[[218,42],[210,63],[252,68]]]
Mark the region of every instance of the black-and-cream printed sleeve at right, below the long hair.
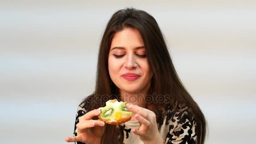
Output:
[[166,136],[166,144],[196,144],[195,119],[182,112],[173,116]]

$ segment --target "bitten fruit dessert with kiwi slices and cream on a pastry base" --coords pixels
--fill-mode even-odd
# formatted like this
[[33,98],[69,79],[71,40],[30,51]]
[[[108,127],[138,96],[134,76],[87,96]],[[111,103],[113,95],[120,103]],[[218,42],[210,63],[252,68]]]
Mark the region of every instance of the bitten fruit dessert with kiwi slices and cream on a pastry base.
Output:
[[100,120],[111,125],[125,123],[131,119],[133,114],[128,111],[126,102],[119,102],[117,99],[107,101],[106,107],[100,107],[99,109],[101,110],[98,116]]

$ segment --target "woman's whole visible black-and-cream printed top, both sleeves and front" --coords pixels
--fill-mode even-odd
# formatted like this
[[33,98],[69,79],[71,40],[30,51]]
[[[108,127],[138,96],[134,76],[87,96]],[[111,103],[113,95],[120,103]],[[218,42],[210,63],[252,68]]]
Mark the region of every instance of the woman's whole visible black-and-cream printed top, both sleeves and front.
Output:
[[[75,125],[79,123],[79,117],[85,115],[85,103],[78,106]],[[158,130],[165,140],[165,144],[196,144],[197,135],[195,133],[195,119],[188,115],[188,108],[180,108],[179,112],[172,113],[171,109],[165,112],[163,125],[159,126]],[[139,128],[140,124],[137,121],[128,121],[119,125],[123,129],[123,144],[143,144],[139,136],[131,132],[132,128]],[[74,136],[77,136],[77,128],[75,126]],[[75,142],[75,144],[84,144],[83,142]]]

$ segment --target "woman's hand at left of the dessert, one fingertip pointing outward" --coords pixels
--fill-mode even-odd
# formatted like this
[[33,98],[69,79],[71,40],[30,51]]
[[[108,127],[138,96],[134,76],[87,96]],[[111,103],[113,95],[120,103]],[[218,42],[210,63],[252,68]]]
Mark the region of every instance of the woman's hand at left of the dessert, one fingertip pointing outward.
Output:
[[75,142],[81,141],[86,144],[99,144],[101,136],[104,133],[105,123],[101,120],[92,120],[94,116],[100,114],[99,109],[94,109],[81,116],[79,123],[77,123],[77,136],[67,137],[65,141]]

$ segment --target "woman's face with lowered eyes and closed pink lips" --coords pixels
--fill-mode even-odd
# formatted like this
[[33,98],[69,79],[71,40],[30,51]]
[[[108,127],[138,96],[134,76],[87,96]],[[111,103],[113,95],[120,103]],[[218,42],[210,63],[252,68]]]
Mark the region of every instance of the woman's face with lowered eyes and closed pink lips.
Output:
[[112,81],[120,90],[128,93],[148,90],[152,72],[145,54],[144,43],[137,29],[125,28],[114,34],[108,68]]

